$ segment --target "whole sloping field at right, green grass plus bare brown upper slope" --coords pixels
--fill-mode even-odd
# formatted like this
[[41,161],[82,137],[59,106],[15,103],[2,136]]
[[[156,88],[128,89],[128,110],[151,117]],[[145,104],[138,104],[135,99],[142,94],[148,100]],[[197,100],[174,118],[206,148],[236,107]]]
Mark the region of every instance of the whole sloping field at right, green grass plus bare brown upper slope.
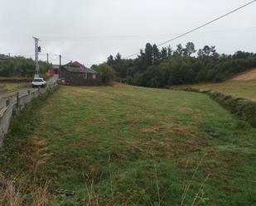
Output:
[[212,90],[228,93],[241,98],[248,98],[256,102],[256,69],[237,74],[233,78],[218,84],[190,84],[181,86],[200,90]]

